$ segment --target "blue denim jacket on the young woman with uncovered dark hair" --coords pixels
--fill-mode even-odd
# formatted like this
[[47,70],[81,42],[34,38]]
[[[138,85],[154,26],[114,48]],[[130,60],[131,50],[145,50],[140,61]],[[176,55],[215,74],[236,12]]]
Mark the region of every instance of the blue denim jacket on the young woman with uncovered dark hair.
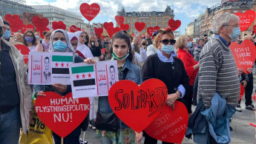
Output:
[[[126,59],[125,68],[128,69],[125,80],[131,80],[131,81],[134,81],[134,83],[137,83],[138,85],[140,85],[142,83],[142,76],[141,76],[139,66],[137,66],[136,64],[133,64],[131,61]],[[119,80],[122,80],[123,72],[119,72],[118,75],[119,75]],[[108,103],[108,97],[99,97],[98,111],[105,112],[105,113],[113,112],[111,109],[111,106]],[[120,128],[128,128],[128,126],[126,126],[125,123],[122,123],[121,120],[120,120],[119,126]]]

